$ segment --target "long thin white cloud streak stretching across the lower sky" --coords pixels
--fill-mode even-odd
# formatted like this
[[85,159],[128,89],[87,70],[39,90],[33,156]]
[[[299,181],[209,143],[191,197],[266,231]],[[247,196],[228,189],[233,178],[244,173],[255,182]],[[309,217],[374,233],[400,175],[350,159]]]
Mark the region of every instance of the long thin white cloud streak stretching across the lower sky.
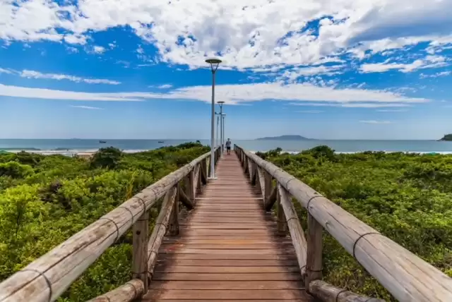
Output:
[[[11,97],[32,97],[42,99],[91,99],[111,101],[137,101],[142,99],[187,99],[210,103],[210,85],[182,87],[169,92],[110,92],[90,93],[61,90],[46,90],[0,85],[0,95]],[[411,103],[429,102],[429,99],[405,97],[393,92],[381,90],[334,89],[317,87],[311,84],[280,85],[279,83],[255,83],[244,85],[217,85],[215,96],[227,104],[246,104],[263,100],[279,100],[292,102],[336,102],[341,107],[400,107]],[[356,104],[356,105],[355,105]]]

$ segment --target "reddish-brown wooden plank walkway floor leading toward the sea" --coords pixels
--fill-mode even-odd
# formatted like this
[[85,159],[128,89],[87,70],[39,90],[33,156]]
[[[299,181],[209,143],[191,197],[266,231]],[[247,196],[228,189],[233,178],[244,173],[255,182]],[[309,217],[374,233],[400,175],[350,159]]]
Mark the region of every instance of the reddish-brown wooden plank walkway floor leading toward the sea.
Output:
[[142,301],[312,301],[295,250],[276,233],[234,152],[218,162],[196,207],[165,237]]

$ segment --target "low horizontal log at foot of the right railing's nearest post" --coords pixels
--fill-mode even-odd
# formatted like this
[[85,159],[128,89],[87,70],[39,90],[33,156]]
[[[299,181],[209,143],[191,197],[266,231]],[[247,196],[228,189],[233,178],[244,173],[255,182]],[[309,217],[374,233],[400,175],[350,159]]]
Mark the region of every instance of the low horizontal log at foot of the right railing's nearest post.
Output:
[[384,302],[381,299],[369,298],[351,291],[344,291],[321,280],[309,283],[309,292],[323,302]]

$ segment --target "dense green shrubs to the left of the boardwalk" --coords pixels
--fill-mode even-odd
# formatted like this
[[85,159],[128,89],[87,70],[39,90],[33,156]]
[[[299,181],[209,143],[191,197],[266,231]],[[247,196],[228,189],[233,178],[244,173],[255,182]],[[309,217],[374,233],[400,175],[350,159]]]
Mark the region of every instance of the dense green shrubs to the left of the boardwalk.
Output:
[[[0,154],[0,281],[208,150],[199,143],[135,154],[109,147],[89,162],[62,155]],[[158,211],[151,209],[151,222]],[[59,301],[87,301],[124,284],[131,277],[130,265],[129,232]]]

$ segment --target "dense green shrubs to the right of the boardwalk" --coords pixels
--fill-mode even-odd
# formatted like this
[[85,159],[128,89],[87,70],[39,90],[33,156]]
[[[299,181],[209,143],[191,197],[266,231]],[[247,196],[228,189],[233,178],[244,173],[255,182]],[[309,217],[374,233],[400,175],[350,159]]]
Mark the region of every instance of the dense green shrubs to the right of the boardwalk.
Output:
[[[452,156],[363,152],[326,146],[297,155],[257,153],[452,277]],[[307,212],[295,202],[306,230]],[[326,282],[395,301],[324,232]]]

